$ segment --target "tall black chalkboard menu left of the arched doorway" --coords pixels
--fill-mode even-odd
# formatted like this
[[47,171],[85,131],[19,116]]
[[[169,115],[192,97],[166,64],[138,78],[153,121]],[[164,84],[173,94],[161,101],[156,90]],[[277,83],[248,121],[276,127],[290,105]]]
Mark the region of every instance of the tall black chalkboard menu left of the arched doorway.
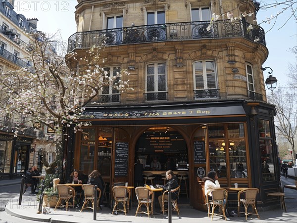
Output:
[[114,177],[126,177],[128,175],[128,142],[115,144]]

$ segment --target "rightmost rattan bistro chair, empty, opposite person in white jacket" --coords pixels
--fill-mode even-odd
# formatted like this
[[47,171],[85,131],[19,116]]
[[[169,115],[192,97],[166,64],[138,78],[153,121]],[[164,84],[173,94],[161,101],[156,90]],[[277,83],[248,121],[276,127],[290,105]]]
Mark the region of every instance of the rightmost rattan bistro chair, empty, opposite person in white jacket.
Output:
[[[237,200],[238,200],[238,207],[237,207],[237,216],[239,217],[239,213],[244,213],[246,215],[246,220],[248,215],[256,215],[258,216],[258,219],[260,219],[260,216],[258,215],[257,208],[255,206],[256,203],[256,196],[259,192],[258,188],[246,188],[238,192]],[[241,205],[244,205],[245,212],[240,212]],[[253,209],[253,213],[247,212],[248,206],[251,206]]]

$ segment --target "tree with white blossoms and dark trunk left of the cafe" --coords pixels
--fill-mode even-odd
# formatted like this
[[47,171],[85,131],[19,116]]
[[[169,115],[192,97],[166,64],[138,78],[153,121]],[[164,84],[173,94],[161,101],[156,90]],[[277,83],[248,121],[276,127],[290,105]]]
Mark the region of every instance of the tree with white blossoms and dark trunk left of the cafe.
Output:
[[[68,129],[73,127],[76,132],[89,125],[79,121],[84,107],[95,102],[104,86],[113,86],[119,91],[130,88],[128,81],[122,80],[128,75],[126,71],[111,76],[102,68],[104,58],[100,52],[104,40],[91,47],[80,61],[75,58],[75,53],[66,55],[77,64],[69,68],[64,55],[51,50],[50,39],[49,35],[41,32],[31,34],[30,43],[23,47],[30,52],[32,67],[0,74],[0,114],[26,116],[27,120],[54,130],[58,144],[56,162],[61,173],[63,143],[67,140]],[[17,127],[15,136],[19,130]]]

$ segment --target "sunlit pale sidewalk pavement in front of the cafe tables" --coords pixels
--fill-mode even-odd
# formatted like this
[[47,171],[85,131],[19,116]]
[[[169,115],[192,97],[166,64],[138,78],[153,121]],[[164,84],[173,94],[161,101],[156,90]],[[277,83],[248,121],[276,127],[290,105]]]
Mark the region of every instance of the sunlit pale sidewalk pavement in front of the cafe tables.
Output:
[[[4,181],[4,180],[1,180]],[[4,182],[0,181],[0,186],[5,185]],[[20,181],[20,179],[19,179]],[[282,177],[284,184],[293,184],[293,179],[286,179]],[[16,182],[16,181],[14,181]],[[260,219],[256,216],[248,216],[247,221],[245,216],[242,217],[229,217],[228,221],[232,222],[250,222],[250,223],[279,223],[284,221],[286,223],[297,222],[297,190],[285,188],[285,202],[287,205],[287,213],[281,209],[269,210],[266,212],[259,212]],[[36,201],[36,195],[30,194],[27,191],[23,195],[22,205],[18,205],[18,198],[13,198],[5,208],[5,211],[15,217],[23,218],[27,220],[37,222],[50,222],[50,223],[167,223],[167,215],[153,215],[148,218],[147,215],[139,214],[135,217],[136,207],[135,205],[131,208],[127,216],[122,212],[118,215],[111,215],[110,208],[103,207],[102,210],[97,212],[97,220],[94,220],[94,213],[90,209],[80,212],[80,209],[70,208],[66,212],[65,209],[57,209],[53,211],[53,208],[47,208],[48,214],[37,214],[38,202]],[[279,202],[278,202],[279,203]],[[225,222],[222,217],[214,217],[213,221],[207,217],[207,213],[198,211],[189,206],[180,206],[180,216],[177,216],[175,212],[172,213],[173,223],[210,223],[210,222]],[[20,220],[21,222],[21,220]]]

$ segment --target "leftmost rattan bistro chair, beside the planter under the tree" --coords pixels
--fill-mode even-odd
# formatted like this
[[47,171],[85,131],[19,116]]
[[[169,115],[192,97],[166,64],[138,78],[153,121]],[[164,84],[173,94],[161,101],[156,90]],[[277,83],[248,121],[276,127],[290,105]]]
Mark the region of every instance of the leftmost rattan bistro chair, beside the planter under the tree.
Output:
[[[58,207],[66,207],[66,211],[68,210],[68,202],[70,201],[70,199],[72,198],[72,206],[74,208],[74,199],[75,199],[75,190],[72,186],[68,186],[68,185],[64,185],[64,184],[57,184],[56,185],[58,194],[59,194],[59,200],[54,208],[54,210],[56,210],[56,208]],[[65,205],[61,205],[62,200],[65,201]]]

